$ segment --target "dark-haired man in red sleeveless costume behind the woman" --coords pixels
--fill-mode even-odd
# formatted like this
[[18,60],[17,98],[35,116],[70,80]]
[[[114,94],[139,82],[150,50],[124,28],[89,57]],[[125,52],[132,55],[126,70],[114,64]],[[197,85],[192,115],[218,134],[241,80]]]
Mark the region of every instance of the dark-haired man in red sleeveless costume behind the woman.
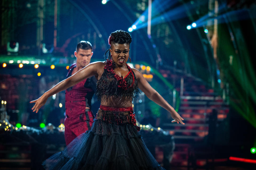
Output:
[[[77,62],[69,67],[67,77],[75,74],[90,64],[93,48],[89,41],[80,41],[77,44],[75,57]],[[91,112],[91,99],[96,89],[96,78],[90,77],[68,88],[65,92],[65,141],[68,145],[78,135],[91,129],[94,115]]]

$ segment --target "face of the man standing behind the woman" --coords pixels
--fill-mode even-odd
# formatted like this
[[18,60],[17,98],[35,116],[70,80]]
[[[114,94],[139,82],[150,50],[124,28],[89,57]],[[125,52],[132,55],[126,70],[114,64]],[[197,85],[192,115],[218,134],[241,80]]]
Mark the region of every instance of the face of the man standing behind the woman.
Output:
[[85,67],[90,64],[91,56],[93,52],[90,50],[78,49],[75,51],[75,57],[77,58],[77,67]]

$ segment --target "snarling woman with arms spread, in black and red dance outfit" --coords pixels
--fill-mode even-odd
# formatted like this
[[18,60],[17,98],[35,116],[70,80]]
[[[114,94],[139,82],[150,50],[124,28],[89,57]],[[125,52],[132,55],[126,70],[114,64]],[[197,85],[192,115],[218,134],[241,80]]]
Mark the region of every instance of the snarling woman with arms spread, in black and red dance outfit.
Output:
[[[149,99],[170,112],[172,122],[183,118],[155,91],[136,69],[127,65],[131,36],[118,30],[109,36],[105,62],[94,62],[45,92],[35,103],[38,112],[48,97],[83,79],[98,79],[96,96],[101,106],[92,128],[75,138],[63,151],[43,162],[46,169],[164,169],[154,159],[138,134],[132,102],[139,88]],[[107,52],[106,52],[107,53]],[[105,53],[105,56],[106,56]]]

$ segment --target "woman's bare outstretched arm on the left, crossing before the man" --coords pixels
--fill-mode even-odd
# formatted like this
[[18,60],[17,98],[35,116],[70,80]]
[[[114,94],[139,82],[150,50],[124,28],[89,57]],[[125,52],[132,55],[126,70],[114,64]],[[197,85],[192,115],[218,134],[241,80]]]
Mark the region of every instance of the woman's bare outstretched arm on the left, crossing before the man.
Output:
[[[103,62],[94,62],[83,69],[79,70],[77,73],[74,75],[70,76],[69,78],[62,80],[58,84],[56,84],[53,88],[45,92],[41,97],[39,97],[37,100],[30,101],[30,103],[35,103],[34,107],[32,108],[33,112],[38,110],[46,103],[47,99],[58,93],[61,92],[71,86],[74,86],[75,84],[81,82],[82,80],[92,77],[92,76],[97,76],[98,72],[100,72],[99,68],[101,68],[102,65],[105,65]],[[103,70],[103,69],[102,69]]]

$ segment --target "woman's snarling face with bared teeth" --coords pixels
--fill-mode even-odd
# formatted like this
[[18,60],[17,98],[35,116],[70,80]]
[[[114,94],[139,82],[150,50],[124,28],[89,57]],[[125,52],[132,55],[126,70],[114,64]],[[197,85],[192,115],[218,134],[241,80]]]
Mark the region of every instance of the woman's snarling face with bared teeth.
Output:
[[129,58],[129,49],[130,45],[128,43],[118,44],[111,43],[110,53],[112,55],[112,59],[115,62],[116,66],[125,66],[126,62]]

